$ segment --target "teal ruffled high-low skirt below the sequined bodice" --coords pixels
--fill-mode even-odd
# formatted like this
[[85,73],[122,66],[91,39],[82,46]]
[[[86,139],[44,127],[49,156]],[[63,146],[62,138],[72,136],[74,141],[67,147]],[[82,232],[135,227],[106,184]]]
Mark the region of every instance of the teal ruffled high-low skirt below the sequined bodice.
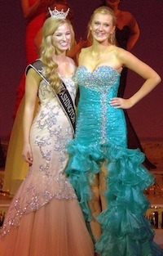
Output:
[[161,249],[153,242],[154,231],[144,217],[149,202],[143,190],[155,182],[143,167],[140,150],[120,146],[81,146],[73,140],[68,145],[70,159],[66,173],[77,193],[86,222],[93,219],[89,202],[95,174],[106,168],[106,209],[97,221],[102,234],[95,243],[100,256],[157,256]]

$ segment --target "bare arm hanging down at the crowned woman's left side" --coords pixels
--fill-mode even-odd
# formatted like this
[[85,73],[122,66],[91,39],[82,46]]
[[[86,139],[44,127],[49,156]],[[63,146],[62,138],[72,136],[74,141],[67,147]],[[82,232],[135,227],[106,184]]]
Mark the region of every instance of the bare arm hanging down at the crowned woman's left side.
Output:
[[29,134],[33,123],[33,115],[37,98],[37,90],[41,82],[41,77],[33,69],[30,69],[25,81],[25,103],[23,116],[23,150],[24,161],[33,163],[33,153],[30,146]]

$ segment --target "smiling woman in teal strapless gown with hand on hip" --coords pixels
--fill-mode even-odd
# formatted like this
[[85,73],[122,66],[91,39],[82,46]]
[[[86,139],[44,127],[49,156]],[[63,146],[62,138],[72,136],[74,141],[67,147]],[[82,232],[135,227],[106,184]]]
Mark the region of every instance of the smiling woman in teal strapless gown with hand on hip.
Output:
[[[81,50],[76,78],[80,89],[77,128],[68,143],[66,168],[100,256],[156,256],[154,231],[144,217],[149,202],[143,190],[154,182],[139,149],[127,148],[129,109],[161,82],[151,67],[115,45],[116,17],[99,7],[88,25],[91,46]],[[121,70],[145,81],[128,99],[117,97]]]

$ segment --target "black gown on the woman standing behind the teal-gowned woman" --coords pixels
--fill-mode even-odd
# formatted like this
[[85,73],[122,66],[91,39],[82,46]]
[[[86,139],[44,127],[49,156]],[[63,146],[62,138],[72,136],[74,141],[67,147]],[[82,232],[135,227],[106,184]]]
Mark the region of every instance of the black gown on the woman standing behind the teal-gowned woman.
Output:
[[[116,28],[116,39],[117,39],[117,45],[123,49],[127,48],[127,42],[130,38],[130,27],[128,25],[125,25],[123,29]],[[127,68],[124,68],[121,72],[121,79],[120,79],[120,86],[118,88],[118,97],[124,97],[125,89],[126,89],[126,83],[127,83]],[[139,137],[137,136],[136,132],[134,131],[134,127],[130,122],[129,115],[127,113],[127,110],[124,110],[125,116],[126,116],[126,126],[127,126],[127,132],[128,132],[128,147],[131,149],[139,148],[143,153],[143,147],[140,144]],[[156,168],[154,164],[152,164],[147,156],[145,156],[145,159],[143,161],[143,164],[146,168]]]

